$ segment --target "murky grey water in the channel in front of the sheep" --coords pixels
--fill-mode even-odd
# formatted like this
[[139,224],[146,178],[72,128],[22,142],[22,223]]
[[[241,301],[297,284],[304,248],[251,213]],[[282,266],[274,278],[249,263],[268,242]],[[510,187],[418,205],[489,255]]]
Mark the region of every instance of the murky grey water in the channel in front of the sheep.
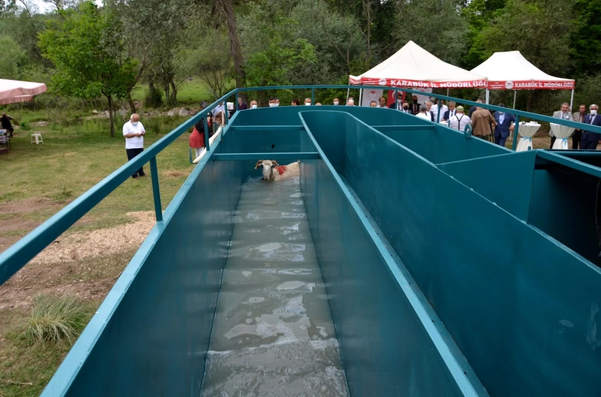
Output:
[[299,180],[242,187],[201,396],[348,396]]

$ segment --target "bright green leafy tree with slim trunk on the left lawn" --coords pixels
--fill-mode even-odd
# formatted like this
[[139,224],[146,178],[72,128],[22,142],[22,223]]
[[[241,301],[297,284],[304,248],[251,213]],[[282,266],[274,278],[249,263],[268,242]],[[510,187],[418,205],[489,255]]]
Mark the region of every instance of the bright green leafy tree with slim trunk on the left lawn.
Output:
[[91,1],[76,10],[58,11],[40,34],[40,47],[56,65],[53,85],[60,94],[108,100],[111,137],[115,136],[113,99],[123,99],[135,79],[136,62],[124,55],[120,23],[112,10],[99,10]]

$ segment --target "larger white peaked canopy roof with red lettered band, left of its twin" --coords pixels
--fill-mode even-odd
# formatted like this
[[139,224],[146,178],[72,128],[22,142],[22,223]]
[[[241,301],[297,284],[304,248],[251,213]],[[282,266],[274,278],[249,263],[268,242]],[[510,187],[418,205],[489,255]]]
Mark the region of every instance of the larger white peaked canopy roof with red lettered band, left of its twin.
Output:
[[361,76],[349,76],[349,84],[404,88],[486,88],[487,79],[484,76],[486,74],[447,64],[409,41],[386,61]]

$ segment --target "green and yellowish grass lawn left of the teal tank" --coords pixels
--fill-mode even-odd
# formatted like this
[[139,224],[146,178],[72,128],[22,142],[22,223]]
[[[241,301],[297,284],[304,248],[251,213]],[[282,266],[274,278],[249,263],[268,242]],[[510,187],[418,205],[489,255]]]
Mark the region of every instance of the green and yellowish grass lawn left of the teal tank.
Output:
[[[23,119],[29,121],[31,130],[16,130],[10,153],[0,156],[0,167],[4,171],[0,179],[0,250],[127,161],[120,124],[116,126],[117,136],[111,138],[105,119],[80,119],[44,127],[31,121],[41,117],[43,112],[23,112]],[[145,146],[184,120],[162,116],[142,119],[147,130]],[[30,134],[34,132],[43,135],[43,145],[30,143]],[[188,134],[165,149],[157,157],[157,165],[162,203],[166,207],[193,169],[188,160]],[[132,218],[126,213],[153,210],[148,165],[145,172],[148,178],[128,179],[66,234],[76,236],[84,231],[130,224]],[[85,295],[82,303],[88,308],[87,322],[137,247],[132,248],[112,256],[66,264],[35,267],[30,263],[22,270],[25,273],[17,273],[0,286],[0,396],[37,396],[71,345],[69,341],[26,343],[23,335],[32,297],[38,293],[65,296],[71,290],[78,290]],[[11,294],[23,293],[27,295],[23,300],[27,304],[19,305],[11,298]]]

